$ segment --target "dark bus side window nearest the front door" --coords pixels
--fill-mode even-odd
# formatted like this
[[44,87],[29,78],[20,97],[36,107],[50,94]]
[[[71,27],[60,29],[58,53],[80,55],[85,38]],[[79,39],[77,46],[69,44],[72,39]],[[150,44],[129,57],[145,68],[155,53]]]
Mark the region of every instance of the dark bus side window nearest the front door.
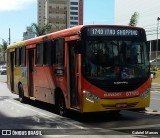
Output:
[[64,39],[60,38],[54,41],[55,46],[55,64],[64,64]]

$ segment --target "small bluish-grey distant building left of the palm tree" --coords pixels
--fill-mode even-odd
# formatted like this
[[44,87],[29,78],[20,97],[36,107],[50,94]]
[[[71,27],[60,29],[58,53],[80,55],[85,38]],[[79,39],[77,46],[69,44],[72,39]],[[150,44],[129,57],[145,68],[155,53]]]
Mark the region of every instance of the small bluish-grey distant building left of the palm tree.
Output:
[[26,28],[26,32],[23,33],[23,40],[27,40],[34,37],[35,37],[35,33],[32,31],[32,27],[28,26]]

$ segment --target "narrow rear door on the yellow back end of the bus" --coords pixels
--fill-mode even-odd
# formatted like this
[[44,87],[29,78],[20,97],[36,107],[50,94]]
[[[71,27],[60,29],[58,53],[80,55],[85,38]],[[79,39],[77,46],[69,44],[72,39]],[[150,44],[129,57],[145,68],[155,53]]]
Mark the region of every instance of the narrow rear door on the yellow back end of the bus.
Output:
[[11,91],[14,91],[14,52],[10,52],[10,86]]

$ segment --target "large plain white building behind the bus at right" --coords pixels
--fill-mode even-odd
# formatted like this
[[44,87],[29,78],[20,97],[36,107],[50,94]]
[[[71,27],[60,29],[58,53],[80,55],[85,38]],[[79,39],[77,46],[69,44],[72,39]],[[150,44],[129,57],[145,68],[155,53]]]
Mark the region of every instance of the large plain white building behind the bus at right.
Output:
[[115,24],[128,25],[134,12],[139,14],[137,26],[146,30],[151,60],[156,58],[156,54],[160,58],[159,7],[160,0],[115,0]]

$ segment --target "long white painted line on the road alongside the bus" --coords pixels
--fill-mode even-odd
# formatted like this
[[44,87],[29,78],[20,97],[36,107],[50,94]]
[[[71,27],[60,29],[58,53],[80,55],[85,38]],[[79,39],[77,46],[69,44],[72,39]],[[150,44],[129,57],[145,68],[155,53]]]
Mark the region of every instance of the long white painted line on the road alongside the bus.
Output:
[[[68,122],[68,121],[67,121],[67,122],[66,122],[66,121],[62,121],[61,119],[52,119],[52,116],[49,116],[49,115],[47,115],[47,114],[45,114],[45,113],[41,113],[41,112],[39,112],[39,111],[37,111],[37,110],[28,108],[28,107],[23,106],[23,105],[21,105],[21,104],[15,103],[15,102],[13,102],[13,101],[11,101],[11,100],[5,100],[5,101],[7,101],[7,102],[9,102],[9,103],[12,103],[12,104],[15,104],[15,105],[18,105],[18,106],[21,106],[21,107],[26,108],[26,109],[28,109],[28,110],[31,110],[31,111],[33,111],[33,112],[35,112],[35,113],[38,113],[39,115],[43,116],[44,118],[46,118],[46,119],[48,119],[48,120],[50,120],[50,121],[62,122],[63,124],[72,125],[72,126],[77,127],[77,128],[79,128],[79,129],[89,129],[89,128],[82,127],[82,126],[79,126],[79,125],[75,125],[75,124],[73,124],[73,123],[71,123],[71,122]],[[54,115],[55,115],[55,114],[54,114]],[[55,115],[55,116],[59,117],[59,115]]]

